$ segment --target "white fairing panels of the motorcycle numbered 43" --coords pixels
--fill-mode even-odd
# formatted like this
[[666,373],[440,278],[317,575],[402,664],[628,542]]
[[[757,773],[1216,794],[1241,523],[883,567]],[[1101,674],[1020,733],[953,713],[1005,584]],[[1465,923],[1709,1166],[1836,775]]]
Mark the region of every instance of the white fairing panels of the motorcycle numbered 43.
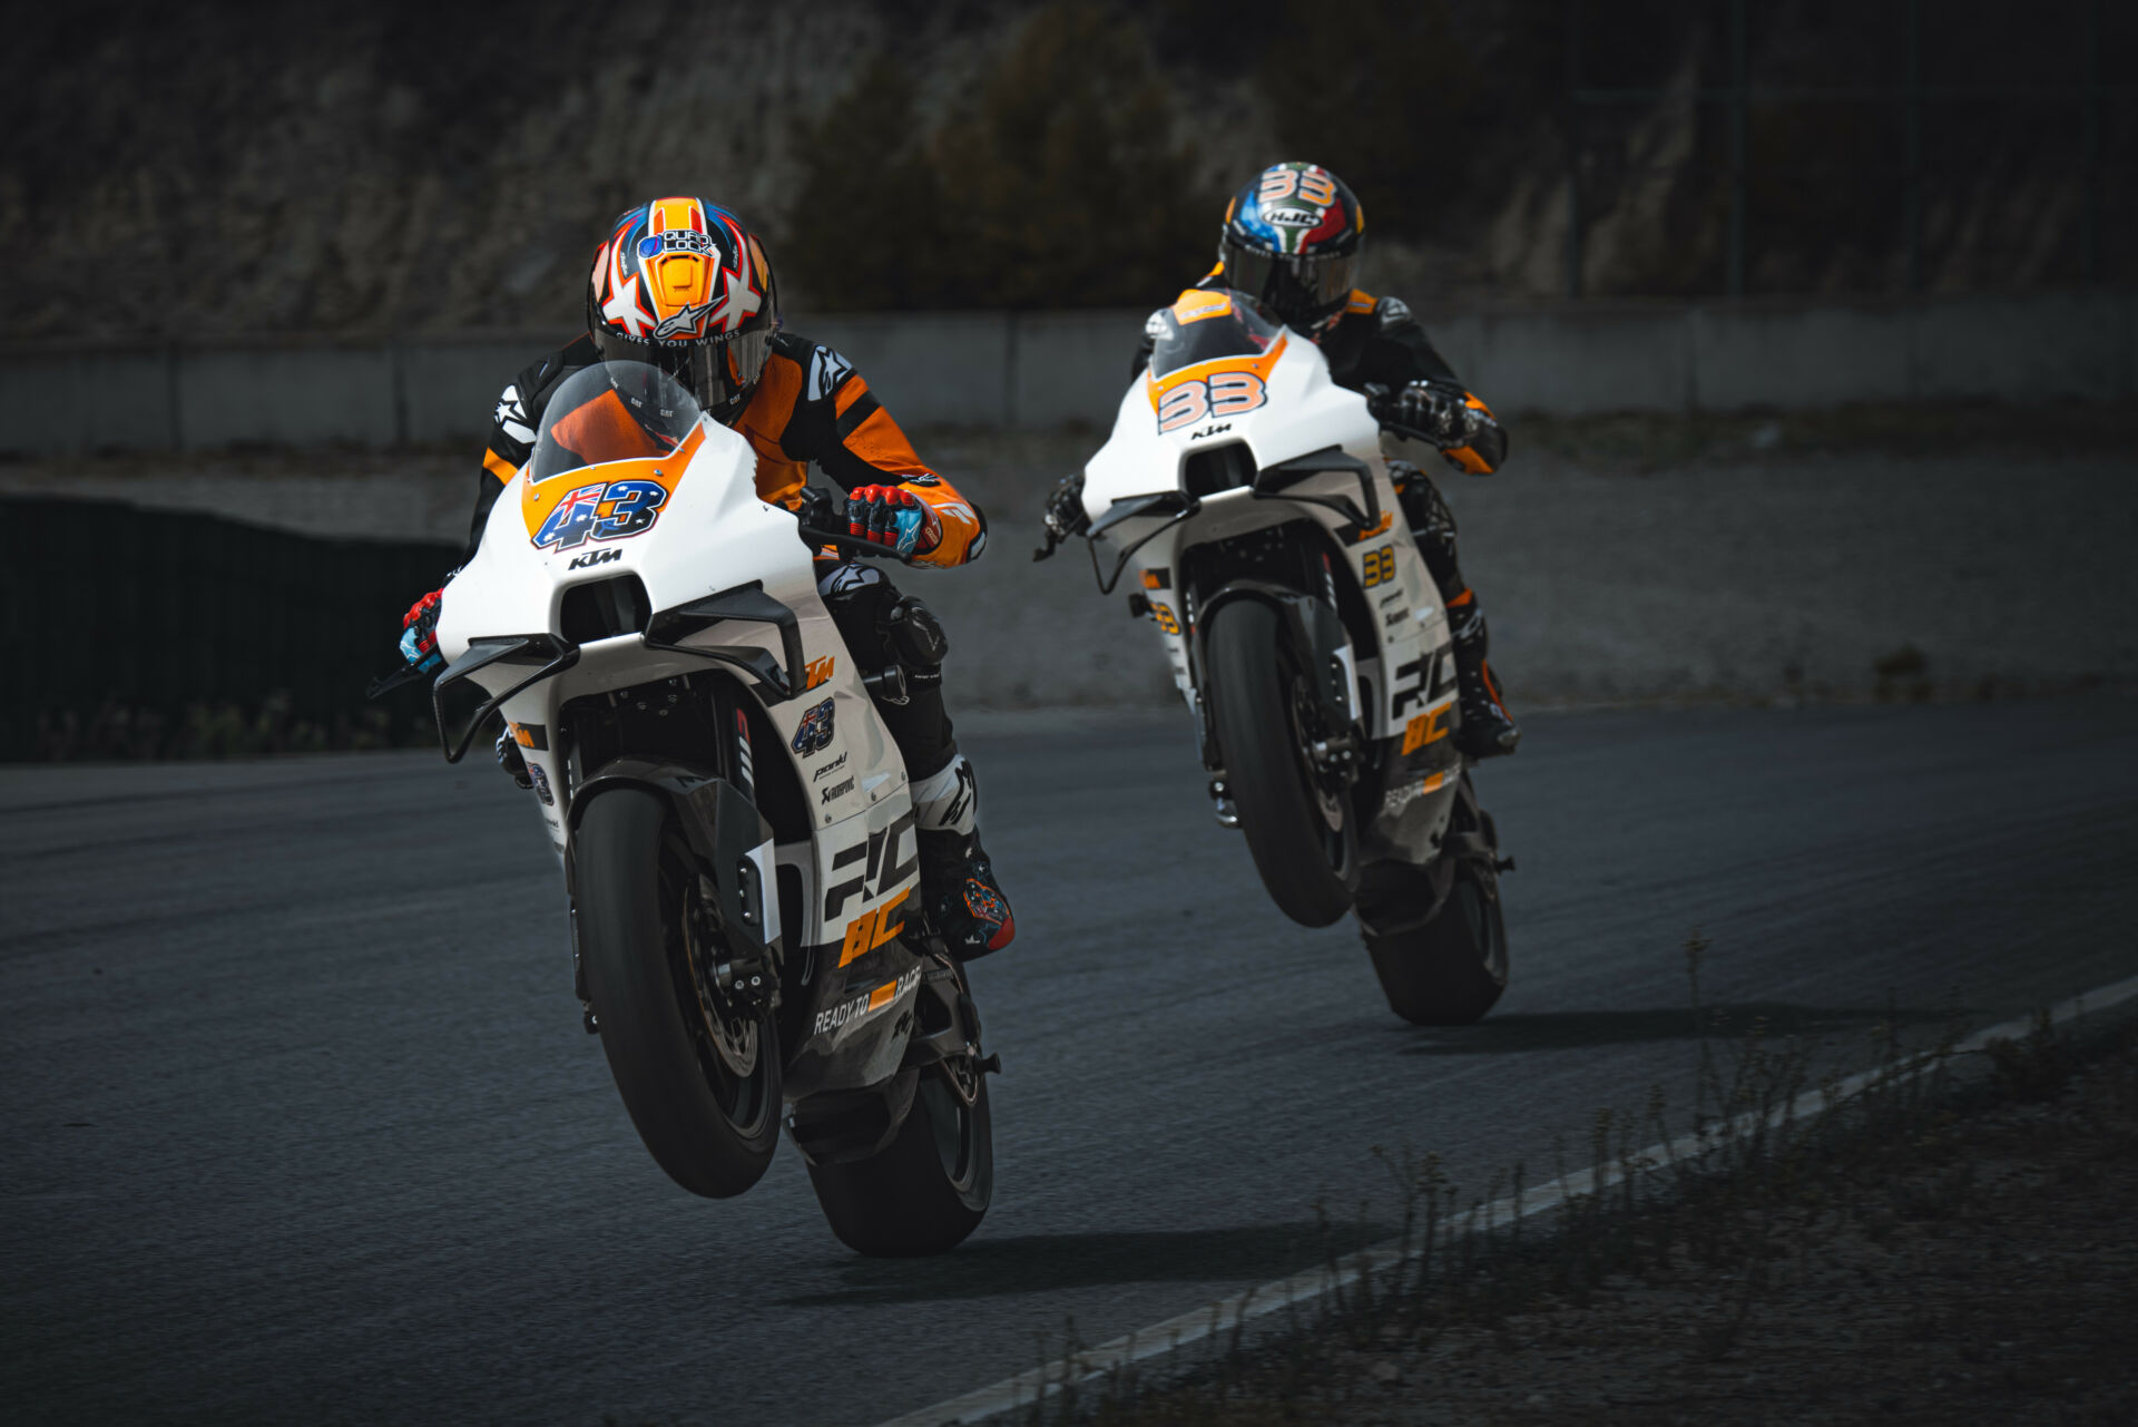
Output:
[[[765,595],[795,614],[804,659],[815,680],[789,700],[763,695],[765,715],[780,734],[778,755],[793,759],[815,828],[808,843],[768,845],[753,860],[759,862],[765,888],[776,884],[774,862],[802,873],[804,924],[785,926],[789,946],[832,943],[836,950],[864,918],[870,918],[868,929],[892,924],[892,918],[872,920],[877,909],[917,890],[904,764],[862,685],[862,670],[855,668],[817,595],[812,552],[797,535],[795,516],[757,498],[757,454],[742,436],[710,417],[701,417],[701,445],[652,524],[629,537],[586,539],[571,550],[537,548],[524,513],[530,473],[520,471],[505,484],[490,511],[481,550],[445,588],[438,646],[451,663],[481,638],[562,633],[567,590],[622,573],[635,573],[644,582],[650,610],[671,610],[706,595],[761,582]],[[601,481],[611,469],[620,466],[611,462],[569,471],[552,477],[545,490]],[[665,475],[676,473],[665,471]],[[787,663],[778,627],[763,623],[723,620],[684,638],[682,644],[759,646],[776,663]],[[543,730],[534,747],[522,738],[522,753],[537,779],[537,807],[558,856],[567,847],[567,811],[575,781],[594,772],[567,766],[558,710],[582,695],[644,687],[678,674],[708,674],[716,668],[725,665],[648,648],[644,635],[622,633],[584,642],[573,668],[505,704],[505,717],[513,725]],[[470,678],[490,693],[500,693],[528,672],[526,663],[490,665]],[[821,747],[804,740],[797,749],[793,740],[804,719],[827,700],[830,740]],[[821,717],[817,723],[821,725]],[[768,749],[759,747],[755,757],[761,770]],[[853,849],[868,847],[870,841],[877,851],[887,849],[889,856],[870,856],[866,869],[859,869]],[[851,884],[855,877],[862,877],[862,886],[836,899],[827,896],[830,888],[840,881]],[[776,918],[776,899],[768,901],[774,903],[770,916]],[[900,1010],[911,1006],[917,978],[898,973],[885,980],[889,991],[881,999],[872,995],[881,988],[864,986],[857,995],[866,1006],[842,1008],[836,1025],[827,1021],[819,1031],[840,1040],[864,1023],[896,1021]],[[904,1042],[889,1038],[885,1044],[892,1063],[877,1068],[881,1074],[896,1070],[896,1055]]]

